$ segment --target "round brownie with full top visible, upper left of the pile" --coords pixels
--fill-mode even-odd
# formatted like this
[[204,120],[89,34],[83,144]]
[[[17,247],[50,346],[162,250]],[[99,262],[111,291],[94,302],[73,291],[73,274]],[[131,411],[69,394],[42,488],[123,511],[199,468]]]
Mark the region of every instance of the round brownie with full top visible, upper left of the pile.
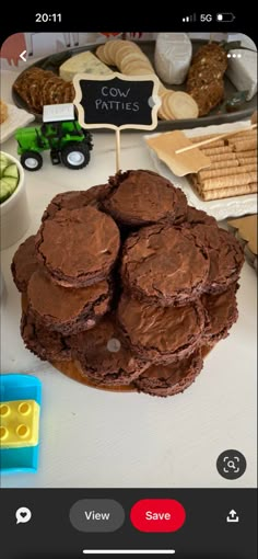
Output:
[[92,206],[64,208],[43,221],[35,246],[38,261],[55,282],[85,287],[108,276],[120,235],[113,218]]

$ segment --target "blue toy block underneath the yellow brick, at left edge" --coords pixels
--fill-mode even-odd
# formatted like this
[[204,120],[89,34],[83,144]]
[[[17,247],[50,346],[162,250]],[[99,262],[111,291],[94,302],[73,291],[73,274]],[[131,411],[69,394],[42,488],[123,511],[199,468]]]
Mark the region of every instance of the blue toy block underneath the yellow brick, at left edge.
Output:
[[[31,375],[0,375],[0,401],[35,400],[42,403],[42,383]],[[39,445],[0,448],[1,474],[37,471]]]

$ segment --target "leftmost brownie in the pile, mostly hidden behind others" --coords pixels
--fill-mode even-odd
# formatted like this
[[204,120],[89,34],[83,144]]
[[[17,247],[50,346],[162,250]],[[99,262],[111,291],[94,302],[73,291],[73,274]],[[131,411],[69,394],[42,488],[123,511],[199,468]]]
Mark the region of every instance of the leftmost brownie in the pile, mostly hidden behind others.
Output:
[[12,259],[11,271],[19,292],[25,293],[27,290],[28,281],[37,266],[35,235],[32,235],[20,244]]

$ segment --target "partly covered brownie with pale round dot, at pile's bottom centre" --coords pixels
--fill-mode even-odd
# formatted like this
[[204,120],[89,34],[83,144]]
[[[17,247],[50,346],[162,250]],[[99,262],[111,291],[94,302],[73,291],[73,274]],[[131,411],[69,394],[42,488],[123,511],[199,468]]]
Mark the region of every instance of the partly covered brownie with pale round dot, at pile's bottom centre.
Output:
[[102,385],[129,385],[149,366],[132,355],[112,315],[92,330],[71,336],[70,343],[82,375]]

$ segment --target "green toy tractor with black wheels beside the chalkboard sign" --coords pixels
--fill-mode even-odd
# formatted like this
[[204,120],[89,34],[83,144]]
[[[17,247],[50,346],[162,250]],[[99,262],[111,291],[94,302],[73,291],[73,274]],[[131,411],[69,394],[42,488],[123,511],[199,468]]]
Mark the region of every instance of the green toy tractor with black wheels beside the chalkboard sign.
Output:
[[63,163],[69,169],[82,169],[90,161],[92,135],[83,130],[74,117],[74,105],[45,105],[43,125],[20,128],[15,138],[21,163],[27,171],[43,166],[42,151],[50,150],[52,164]]

